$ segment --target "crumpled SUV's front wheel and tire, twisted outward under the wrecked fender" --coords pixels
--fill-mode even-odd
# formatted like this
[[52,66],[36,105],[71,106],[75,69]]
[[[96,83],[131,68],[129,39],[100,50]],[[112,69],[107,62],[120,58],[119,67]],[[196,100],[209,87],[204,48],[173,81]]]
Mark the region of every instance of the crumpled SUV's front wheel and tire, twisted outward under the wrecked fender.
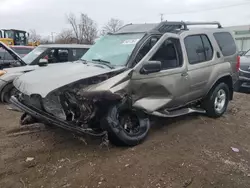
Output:
[[132,111],[121,103],[108,109],[101,126],[107,130],[112,144],[135,146],[147,137],[150,122],[145,113]]

